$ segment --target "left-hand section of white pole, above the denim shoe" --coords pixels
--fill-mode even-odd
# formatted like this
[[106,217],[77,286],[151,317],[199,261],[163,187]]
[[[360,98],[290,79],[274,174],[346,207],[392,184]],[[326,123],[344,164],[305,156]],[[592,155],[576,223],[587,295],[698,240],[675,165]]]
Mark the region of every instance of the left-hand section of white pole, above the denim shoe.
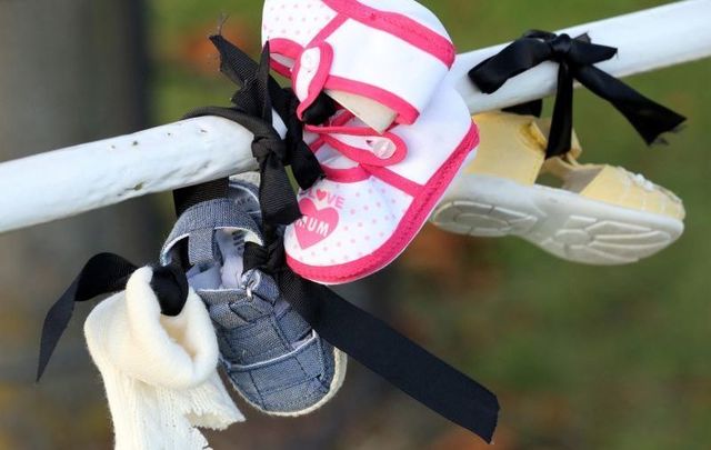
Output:
[[253,136],[184,120],[0,164],[0,232],[257,168]]

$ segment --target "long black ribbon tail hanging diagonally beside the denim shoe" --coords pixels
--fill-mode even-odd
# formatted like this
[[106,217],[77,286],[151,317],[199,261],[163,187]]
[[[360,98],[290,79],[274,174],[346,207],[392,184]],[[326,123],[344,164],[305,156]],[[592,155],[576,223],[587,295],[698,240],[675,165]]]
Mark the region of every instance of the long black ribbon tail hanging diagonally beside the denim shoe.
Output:
[[244,270],[252,269],[272,276],[284,299],[332,346],[491,443],[499,401],[487,388],[327,287],[292,272],[281,239],[267,247],[247,243]]

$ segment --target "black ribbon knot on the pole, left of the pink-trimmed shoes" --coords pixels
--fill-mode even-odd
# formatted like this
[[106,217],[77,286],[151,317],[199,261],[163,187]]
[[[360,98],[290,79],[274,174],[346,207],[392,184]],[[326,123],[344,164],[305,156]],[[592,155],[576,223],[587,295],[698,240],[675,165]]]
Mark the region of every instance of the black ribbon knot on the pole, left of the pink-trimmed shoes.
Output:
[[[269,43],[262,50],[260,62],[220,34],[210,37],[220,52],[220,71],[240,89],[232,96],[233,107],[208,107],[190,112],[186,118],[219,116],[240,123],[254,134],[252,154],[259,162],[262,182],[260,202],[264,220],[270,223],[289,224],[301,217],[296,194],[283,196],[291,190],[286,166],[291,166],[294,179],[302,189],[308,189],[323,176],[321,166],[303,142],[303,123],[297,118],[299,100],[289,89],[281,89],[269,74]],[[287,139],[282,140],[272,126],[272,108],[287,126]],[[312,104],[304,118],[321,123],[336,112],[336,104],[326,94]],[[218,182],[224,186],[224,181]],[[213,184],[214,186],[214,184]],[[178,197],[192,197],[191,191],[202,187],[177,191]],[[280,193],[280,194],[278,194]],[[176,201],[176,204],[184,204]]]

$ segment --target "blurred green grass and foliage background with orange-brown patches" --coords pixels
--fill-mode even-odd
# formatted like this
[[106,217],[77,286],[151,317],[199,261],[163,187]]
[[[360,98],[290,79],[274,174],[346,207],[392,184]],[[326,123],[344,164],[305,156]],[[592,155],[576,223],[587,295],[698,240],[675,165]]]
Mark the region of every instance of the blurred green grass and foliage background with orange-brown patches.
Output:
[[[157,121],[227,102],[233,88],[217,74],[214,51],[194,42],[226,13],[228,36],[257,54],[261,3],[153,1]],[[665,2],[424,3],[464,51],[531,28],[555,30]],[[501,396],[494,448],[701,449],[711,442],[710,76],[707,60],[629,80],[690,118],[670,146],[652,149],[604,101],[577,93],[585,162],[623,166],[685,201],[688,230],[671,249],[633,266],[592,268],[515,238],[474,240],[427,228],[399,260],[399,296],[390,299],[398,327]],[[343,448],[479,448],[409,400],[392,402],[361,424],[367,437],[351,431]]]

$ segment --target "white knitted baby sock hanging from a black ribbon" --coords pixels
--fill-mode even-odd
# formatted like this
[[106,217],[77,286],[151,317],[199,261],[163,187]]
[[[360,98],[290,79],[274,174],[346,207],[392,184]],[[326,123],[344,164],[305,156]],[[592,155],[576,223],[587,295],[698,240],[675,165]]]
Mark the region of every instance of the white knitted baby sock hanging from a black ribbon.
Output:
[[190,290],[182,312],[161,316],[152,270],[91,312],[89,352],[109,399],[117,450],[206,449],[196,427],[243,421],[217,373],[218,343],[200,298]]

